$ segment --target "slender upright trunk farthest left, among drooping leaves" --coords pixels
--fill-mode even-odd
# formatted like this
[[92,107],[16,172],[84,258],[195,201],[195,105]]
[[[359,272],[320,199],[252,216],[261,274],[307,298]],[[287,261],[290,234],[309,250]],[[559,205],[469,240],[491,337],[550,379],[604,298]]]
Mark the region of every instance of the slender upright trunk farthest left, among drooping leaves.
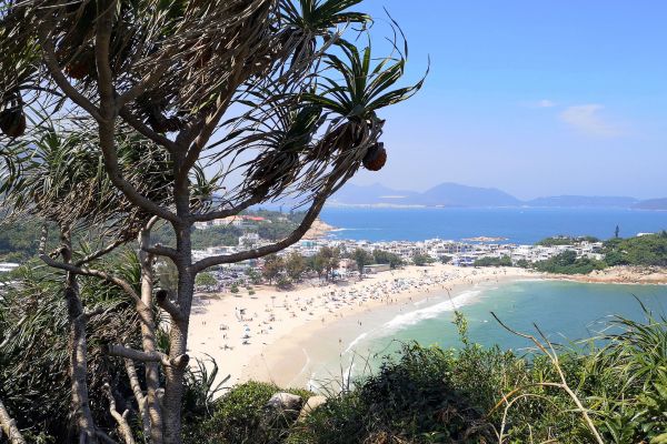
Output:
[[[69,228],[60,228],[62,242],[62,260],[70,263],[72,259],[71,232]],[[71,411],[79,432],[79,443],[97,443],[94,422],[90,412],[88,396],[88,343],[86,340],[87,317],[79,296],[77,275],[68,272],[66,275],[64,300],[69,320],[69,365],[72,384]]]

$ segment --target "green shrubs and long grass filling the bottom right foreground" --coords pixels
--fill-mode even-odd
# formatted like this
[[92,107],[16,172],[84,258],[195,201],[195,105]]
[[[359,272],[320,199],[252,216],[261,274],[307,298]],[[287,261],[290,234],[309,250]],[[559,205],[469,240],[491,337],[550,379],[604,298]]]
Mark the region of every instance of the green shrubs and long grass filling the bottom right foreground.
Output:
[[[648,313],[647,313],[648,314]],[[558,370],[605,443],[667,442],[667,323],[616,319],[614,334],[586,347],[559,347],[557,361],[471,344],[404,344],[356,387],[330,394],[303,422],[262,423],[279,391],[247,383],[189,427],[190,443],[593,443],[594,432],[565,390]],[[595,343],[601,345],[595,345]],[[307,396],[308,394],[291,391]],[[198,433],[192,433],[197,431]]]

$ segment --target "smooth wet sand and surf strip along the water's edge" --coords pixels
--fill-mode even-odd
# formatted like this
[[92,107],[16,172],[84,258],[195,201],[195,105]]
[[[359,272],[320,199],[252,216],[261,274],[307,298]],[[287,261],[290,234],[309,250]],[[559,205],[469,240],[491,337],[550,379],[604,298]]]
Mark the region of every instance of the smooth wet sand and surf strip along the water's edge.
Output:
[[[454,282],[448,287],[435,289],[398,302],[351,313],[328,325],[309,325],[280,337],[273,345],[255,356],[246,367],[242,381],[268,381],[283,387],[325,387],[339,384],[348,372],[364,362],[369,350],[358,344],[380,334],[387,336],[405,323],[420,322],[442,312],[454,312],[477,302],[484,291],[520,281],[540,281],[534,274],[480,275],[472,282]],[[389,330],[387,330],[389,329]],[[374,352],[374,353],[377,353]],[[338,356],[335,359],[334,356]],[[337,362],[334,362],[337,361]],[[334,365],[335,364],[335,365]],[[336,369],[336,372],[332,371]]]

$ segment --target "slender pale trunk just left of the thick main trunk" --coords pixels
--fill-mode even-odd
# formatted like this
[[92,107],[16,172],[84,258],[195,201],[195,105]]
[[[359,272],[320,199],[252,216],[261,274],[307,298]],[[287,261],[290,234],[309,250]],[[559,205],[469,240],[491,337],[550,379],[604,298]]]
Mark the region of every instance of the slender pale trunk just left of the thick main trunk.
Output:
[[[150,245],[150,228],[141,231],[139,236],[141,246]],[[141,263],[141,301],[145,306],[152,306],[153,292],[153,258],[151,254],[139,250],[139,261]],[[138,307],[142,310],[142,307]],[[147,313],[150,324],[141,323],[141,343],[145,352],[153,353],[157,350],[156,345],[156,329],[152,312]],[[160,389],[160,370],[159,363],[147,362],[146,365],[146,408],[150,420],[150,442],[151,444],[162,444],[163,421],[162,408],[158,400],[158,390]]]

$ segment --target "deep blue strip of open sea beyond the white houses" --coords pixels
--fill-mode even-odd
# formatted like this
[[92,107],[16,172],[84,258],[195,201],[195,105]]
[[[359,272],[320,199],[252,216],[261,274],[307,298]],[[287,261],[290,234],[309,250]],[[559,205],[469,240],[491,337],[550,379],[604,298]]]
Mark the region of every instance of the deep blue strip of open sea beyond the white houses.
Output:
[[667,229],[667,211],[623,209],[368,209],[325,208],[322,220],[341,229],[337,239],[367,241],[460,240],[501,236],[528,244],[564,235],[608,239],[616,225],[624,238]]

